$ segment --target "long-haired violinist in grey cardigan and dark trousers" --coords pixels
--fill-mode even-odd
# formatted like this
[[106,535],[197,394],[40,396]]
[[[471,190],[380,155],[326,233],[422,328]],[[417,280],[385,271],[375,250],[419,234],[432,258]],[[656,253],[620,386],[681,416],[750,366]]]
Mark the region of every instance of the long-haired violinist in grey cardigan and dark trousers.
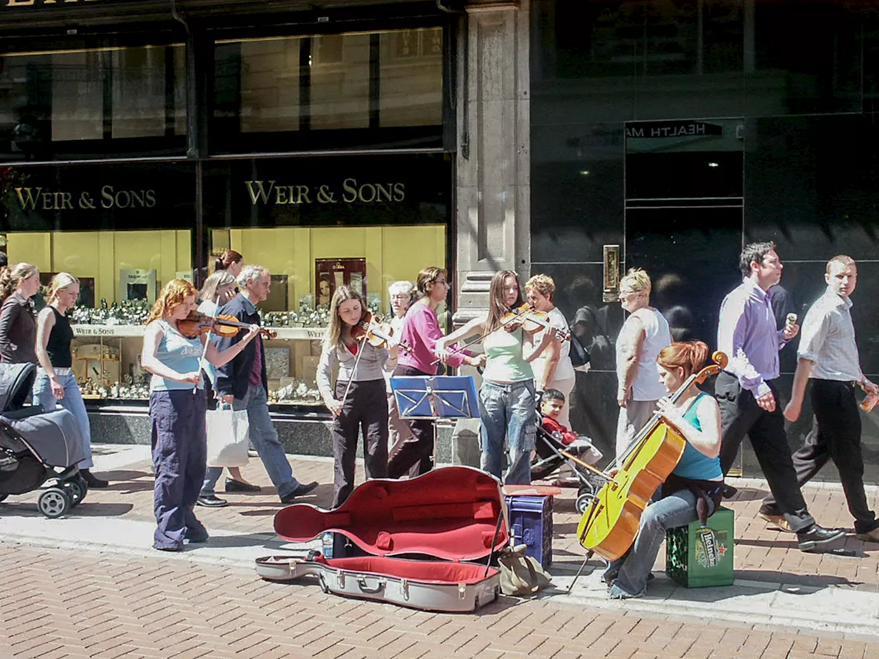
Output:
[[[388,474],[388,398],[384,373],[396,366],[398,348],[376,348],[357,341],[352,329],[361,327],[367,305],[348,286],[339,286],[330,301],[330,325],[323,337],[317,365],[317,388],[332,412],[333,508],[354,489],[354,456],[363,429],[363,457],[367,478]],[[331,374],[338,365],[335,389]]]

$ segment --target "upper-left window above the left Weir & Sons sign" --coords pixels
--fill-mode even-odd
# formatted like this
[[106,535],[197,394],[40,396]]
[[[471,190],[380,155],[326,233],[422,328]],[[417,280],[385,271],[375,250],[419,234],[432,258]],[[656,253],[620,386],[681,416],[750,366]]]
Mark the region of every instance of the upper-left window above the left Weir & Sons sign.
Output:
[[0,158],[167,152],[185,132],[180,44],[0,55]]

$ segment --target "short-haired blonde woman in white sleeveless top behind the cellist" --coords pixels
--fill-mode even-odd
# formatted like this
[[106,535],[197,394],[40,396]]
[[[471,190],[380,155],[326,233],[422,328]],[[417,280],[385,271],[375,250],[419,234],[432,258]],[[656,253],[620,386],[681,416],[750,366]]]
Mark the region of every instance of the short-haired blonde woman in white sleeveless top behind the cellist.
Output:
[[620,304],[628,311],[616,340],[616,375],[620,386],[616,402],[620,418],[616,424],[616,455],[626,446],[657,409],[665,396],[659,381],[659,351],[672,343],[668,322],[656,308],[650,307],[650,276],[633,268],[620,280]]

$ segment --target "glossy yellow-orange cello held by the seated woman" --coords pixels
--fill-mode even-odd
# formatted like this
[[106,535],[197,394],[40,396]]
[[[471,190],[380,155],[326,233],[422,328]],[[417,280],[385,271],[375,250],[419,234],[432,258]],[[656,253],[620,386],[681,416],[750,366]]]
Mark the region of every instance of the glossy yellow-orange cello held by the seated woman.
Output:
[[[723,352],[715,352],[711,359],[715,363],[690,375],[671,396],[672,402],[694,382],[701,384],[726,367]],[[628,551],[638,533],[641,513],[677,467],[685,446],[684,436],[657,412],[627,446],[619,471],[613,477],[602,472],[607,483],[586,507],[577,527],[578,540],[590,555],[615,561]]]

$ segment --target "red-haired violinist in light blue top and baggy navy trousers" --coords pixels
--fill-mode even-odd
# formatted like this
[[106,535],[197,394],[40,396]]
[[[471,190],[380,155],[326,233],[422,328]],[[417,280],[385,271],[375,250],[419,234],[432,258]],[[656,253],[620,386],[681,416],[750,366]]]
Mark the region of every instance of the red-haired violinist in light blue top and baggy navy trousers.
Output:
[[241,341],[222,352],[207,341],[206,334],[185,337],[178,322],[195,310],[197,293],[185,279],[171,279],[153,305],[143,335],[141,364],[153,374],[149,383],[156,467],[153,547],[169,552],[180,551],[184,540],[207,540],[207,529],[193,512],[207,459],[201,356],[222,366],[259,333],[258,325],[251,325]]

